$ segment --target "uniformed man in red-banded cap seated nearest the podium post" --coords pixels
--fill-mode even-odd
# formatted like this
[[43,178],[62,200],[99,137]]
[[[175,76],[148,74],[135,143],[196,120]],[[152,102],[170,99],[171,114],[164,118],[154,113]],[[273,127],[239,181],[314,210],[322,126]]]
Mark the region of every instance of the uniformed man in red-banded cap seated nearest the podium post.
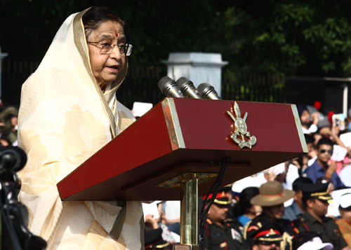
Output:
[[[203,199],[205,197],[206,195]],[[208,199],[211,197],[212,195],[209,195]],[[225,190],[220,190],[208,210],[204,223],[206,249],[249,249],[249,245],[242,237],[243,228],[239,221],[227,218],[230,202],[229,194]]]

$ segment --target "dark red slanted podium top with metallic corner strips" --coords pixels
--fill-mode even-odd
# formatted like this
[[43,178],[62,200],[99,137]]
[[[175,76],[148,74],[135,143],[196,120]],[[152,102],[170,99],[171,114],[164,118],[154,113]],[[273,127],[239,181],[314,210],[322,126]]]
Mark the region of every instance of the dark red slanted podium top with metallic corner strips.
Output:
[[[307,152],[296,106],[237,102],[257,142],[232,141],[234,101],[166,98],[58,183],[62,200],[180,200],[168,187],[186,173],[216,174],[223,186]],[[199,181],[199,195],[214,178]]]

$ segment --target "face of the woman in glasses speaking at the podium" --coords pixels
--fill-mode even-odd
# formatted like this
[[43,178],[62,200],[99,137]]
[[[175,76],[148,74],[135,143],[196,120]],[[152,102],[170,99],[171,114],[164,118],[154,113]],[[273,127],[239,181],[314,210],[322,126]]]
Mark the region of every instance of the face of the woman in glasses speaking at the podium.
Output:
[[[102,22],[98,29],[91,32],[88,42],[107,42],[124,45],[126,36],[119,22],[109,20]],[[88,43],[91,69],[100,88],[105,89],[107,84],[116,80],[117,75],[124,67],[126,56],[121,55],[117,46],[114,46],[111,54],[102,55],[100,54],[100,48],[97,46],[99,46],[97,43]]]

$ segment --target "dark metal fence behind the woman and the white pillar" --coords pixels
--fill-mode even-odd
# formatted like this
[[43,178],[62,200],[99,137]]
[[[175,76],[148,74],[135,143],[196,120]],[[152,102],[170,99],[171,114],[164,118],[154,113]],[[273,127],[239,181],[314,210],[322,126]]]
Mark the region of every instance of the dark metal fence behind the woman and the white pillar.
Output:
[[[22,83],[37,69],[39,62],[18,60],[11,57],[2,64],[2,99],[5,104],[18,106]],[[117,98],[131,109],[133,102],[157,104],[164,98],[157,87],[159,79],[166,76],[166,66],[132,65],[126,80],[117,91]],[[338,78],[337,78],[338,79]],[[211,83],[210,83],[211,84]],[[336,105],[348,81],[329,81],[326,78],[286,78],[258,74],[225,72],[222,76],[221,97],[228,100],[249,102],[279,102],[293,104],[325,104],[322,111],[340,112]],[[331,95],[331,93],[334,93]],[[349,95],[350,99],[351,95]],[[350,102],[349,102],[350,103]],[[335,110],[338,109],[338,110]]]

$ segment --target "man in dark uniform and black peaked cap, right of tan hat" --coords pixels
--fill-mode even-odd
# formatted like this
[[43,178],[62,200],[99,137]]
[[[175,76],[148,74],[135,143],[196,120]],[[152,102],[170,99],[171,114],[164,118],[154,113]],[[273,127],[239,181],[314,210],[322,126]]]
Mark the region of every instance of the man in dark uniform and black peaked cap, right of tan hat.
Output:
[[340,233],[333,218],[326,217],[329,195],[328,183],[301,184],[305,213],[297,221],[293,221],[293,230],[300,232],[317,232],[322,242],[330,242],[335,249],[351,250]]

